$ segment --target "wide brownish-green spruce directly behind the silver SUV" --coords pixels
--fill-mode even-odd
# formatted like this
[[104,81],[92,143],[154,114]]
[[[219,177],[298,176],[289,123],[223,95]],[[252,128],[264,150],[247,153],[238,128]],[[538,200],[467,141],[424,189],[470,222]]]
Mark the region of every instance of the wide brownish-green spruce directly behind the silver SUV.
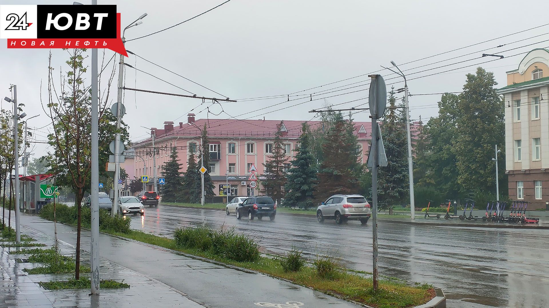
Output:
[[322,144],[323,161],[318,170],[317,201],[324,201],[335,193],[356,193],[358,178],[355,174],[355,153],[349,151],[348,124],[341,113],[335,113]]

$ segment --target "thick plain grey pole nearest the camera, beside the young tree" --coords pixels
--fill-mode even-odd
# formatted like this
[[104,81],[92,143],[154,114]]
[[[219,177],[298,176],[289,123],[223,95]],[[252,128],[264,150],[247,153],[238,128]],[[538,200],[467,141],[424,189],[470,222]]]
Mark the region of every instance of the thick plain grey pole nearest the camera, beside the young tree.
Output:
[[[92,5],[97,5],[97,0],[92,0]],[[99,295],[99,98],[98,98],[98,69],[97,48],[92,48],[92,157],[91,157],[91,242],[90,262],[91,294]],[[120,115],[120,113],[119,113]],[[116,182],[117,183],[117,182]]]

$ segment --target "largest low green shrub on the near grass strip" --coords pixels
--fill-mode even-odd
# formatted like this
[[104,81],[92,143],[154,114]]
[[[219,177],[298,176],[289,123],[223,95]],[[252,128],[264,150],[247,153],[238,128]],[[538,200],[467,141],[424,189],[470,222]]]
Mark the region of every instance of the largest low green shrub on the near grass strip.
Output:
[[206,226],[184,227],[173,235],[178,246],[208,252],[221,258],[239,262],[259,259],[259,244],[243,234],[237,234],[234,228],[229,230],[211,230]]

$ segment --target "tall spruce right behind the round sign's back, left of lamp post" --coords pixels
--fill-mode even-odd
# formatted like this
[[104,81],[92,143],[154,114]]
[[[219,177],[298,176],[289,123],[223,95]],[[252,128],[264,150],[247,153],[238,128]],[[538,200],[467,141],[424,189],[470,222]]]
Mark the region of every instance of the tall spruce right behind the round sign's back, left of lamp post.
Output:
[[378,196],[388,206],[403,205],[408,200],[408,161],[406,117],[396,112],[394,88],[389,93],[389,106],[382,122],[381,134],[387,166],[378,170]]

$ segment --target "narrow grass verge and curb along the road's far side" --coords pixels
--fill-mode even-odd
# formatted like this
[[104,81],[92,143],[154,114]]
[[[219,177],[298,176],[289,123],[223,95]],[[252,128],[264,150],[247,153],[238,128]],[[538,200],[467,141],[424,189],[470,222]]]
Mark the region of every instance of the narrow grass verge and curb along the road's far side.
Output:
[[[182,207],[182,208],[191,208],[191,209],[209,209],[209,210],[220,210],[225,212],[224,208],[203,208],[203,207],[189,207],[189,206],[180,206],[177,204],[161,203],[167,206]],[[305,213],[288,213],[288,212],[277,212],[277,215],[283,216],[299,216],[307,218],[315,218],[314,214],[305,214]],[[379,213],[384,214],[384,213]],[[417,221],[406,221],[406,220],[396,220],[396,219],[378,219],[380,223],[387,224],[404,224],[404,225],[416,225],[416,226],[448,226],[448,227],[479,227],[479,228],[495,228],[495,229],[534,229],[534,230],[549,230],[549,226],[539,226],[539,225],[487,225],[482,224],[467,224],[467,223],[423,223]],[[505,223],[504,223],[505,224]]]

